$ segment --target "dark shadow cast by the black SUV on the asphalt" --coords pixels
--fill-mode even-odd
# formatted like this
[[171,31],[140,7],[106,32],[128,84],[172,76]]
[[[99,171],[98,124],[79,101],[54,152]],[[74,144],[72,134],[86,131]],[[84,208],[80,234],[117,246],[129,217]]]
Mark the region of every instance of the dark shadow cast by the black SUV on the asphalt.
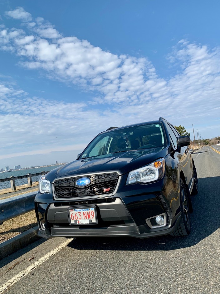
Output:
[[198,179],[199,192],[192,197],[191,233],[138,239],[133,237],[76,238],[68,246],[78,250],[175,250],[198,244],[220,227],[220,177]]

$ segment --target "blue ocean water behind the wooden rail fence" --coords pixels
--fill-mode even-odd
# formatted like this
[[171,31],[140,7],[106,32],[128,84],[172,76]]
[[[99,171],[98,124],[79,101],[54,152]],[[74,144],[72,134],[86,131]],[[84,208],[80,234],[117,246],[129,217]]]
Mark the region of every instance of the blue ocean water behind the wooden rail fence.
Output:
[[[27,169],[27,170],[15,170],[15,171],[9,171],[7,173],[0,173],[0,179],[9,178],[12,175],[14,177],[17,177],[17,176],[20,176],[20,175],[37,174],[37,173],[41,173],[43,170],[44,171],[53,170],[58,166],[60,166],[60,165],[37,167],[37,168],[32,168],[32,169]],[[32,177],[32,182],[39,181],[40,177],[41,177],[41,175]],[[27,184],[27,178],[15,180],[15,185],[16,186],[24,185],[24,184]],[[0,190],[6,189],[6,188],[11,188],[10,181],[0,183]]]

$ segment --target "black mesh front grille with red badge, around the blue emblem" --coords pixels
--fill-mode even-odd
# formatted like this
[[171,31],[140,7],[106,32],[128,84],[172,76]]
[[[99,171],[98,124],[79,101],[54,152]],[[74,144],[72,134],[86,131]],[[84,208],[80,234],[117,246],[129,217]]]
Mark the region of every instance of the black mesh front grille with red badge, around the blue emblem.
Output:
[[[54,182],[54,192],[56,198],[77,198],[98,195],[109,195],[115,190],[119,175],[117,173],[108,173],[100,175],[86,175],[90,179],[90,184],[86,187],[77,187],[76,181],[82,176],[68,179],[56,180]],[[104,192],[104,189],[108,189]]]

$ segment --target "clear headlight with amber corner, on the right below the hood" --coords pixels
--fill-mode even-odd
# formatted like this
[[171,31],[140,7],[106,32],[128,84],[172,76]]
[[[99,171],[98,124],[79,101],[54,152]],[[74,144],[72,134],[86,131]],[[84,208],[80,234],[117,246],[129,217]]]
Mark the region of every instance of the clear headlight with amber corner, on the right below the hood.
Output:
[[163,178],[165,172],[165,159],[160,158],[149,165],[137,170],[132,170],[128,174],[126,185],[134,183],[149,183]]

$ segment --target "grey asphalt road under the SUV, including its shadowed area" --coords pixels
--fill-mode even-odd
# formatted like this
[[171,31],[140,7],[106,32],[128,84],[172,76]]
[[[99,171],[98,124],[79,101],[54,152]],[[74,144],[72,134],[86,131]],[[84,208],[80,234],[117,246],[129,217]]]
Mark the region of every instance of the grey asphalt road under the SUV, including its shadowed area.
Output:
[[11,285],[4,293],[219,294],[220,146],[213,147],[219,153],[193,154],[199,193],[189,236],[41,239],[0,261],[0,284]]

